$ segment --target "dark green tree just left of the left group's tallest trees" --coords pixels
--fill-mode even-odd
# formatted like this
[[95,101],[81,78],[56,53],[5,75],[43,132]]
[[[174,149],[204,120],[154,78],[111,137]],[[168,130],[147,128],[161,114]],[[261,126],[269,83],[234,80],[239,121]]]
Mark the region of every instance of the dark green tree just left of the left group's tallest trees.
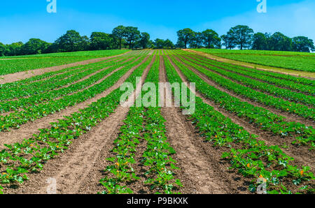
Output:
[[107,50],[111,48],[113,39],[109,34],[92,32],[90,36],[90,47],[92,50]]

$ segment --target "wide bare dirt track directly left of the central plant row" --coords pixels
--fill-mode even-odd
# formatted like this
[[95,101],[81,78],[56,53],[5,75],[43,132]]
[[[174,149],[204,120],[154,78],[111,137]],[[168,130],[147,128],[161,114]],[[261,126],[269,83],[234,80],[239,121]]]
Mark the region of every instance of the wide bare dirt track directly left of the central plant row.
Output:
[[[153,57],[151,64],[144,70],[143,80],[154,60]],[[116,89],[120,84],[116,84]],[[134,91],[135,97],[140,93],[141,84],[139,83],[137,91]],[[127,103],[130,106],[133,102],[130,99]],[[48,178],[56,180],[57,193],[61,194],[95,194],[103,191],[104,188],[100,186],[99,180],[102,179],[102,170],[106,168],[105,158],[109,156],[113,140],[118,137],[120,126],[123,125],[123,120],[129,110],[130,107],[119,106],[113,114],[110,114],[91,131],[73,140],[73,144],[66,152],[48,161],[42,172],[30,174],[29,181],[26,181],[20,188],[10,189],[6,193],[45,194],[50,186],[47,183]]]

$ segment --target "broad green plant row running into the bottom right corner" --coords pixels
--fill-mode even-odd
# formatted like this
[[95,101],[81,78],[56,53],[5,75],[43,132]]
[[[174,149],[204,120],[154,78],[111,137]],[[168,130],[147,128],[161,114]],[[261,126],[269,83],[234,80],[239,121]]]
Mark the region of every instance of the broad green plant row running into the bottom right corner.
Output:
[[[169,82],[183,82],[167,58],[165,66]],[[256,139],[256,135],[250,135],[199,97],[190,121],[214,147],[230,149],[223,152],[222,158],[230,163],[230,169],[251,179],[249,191],[255,193],[260,183],[265,182],[267,193],[314,193],[311,181],[315,178],[309,167],[291,165],[294,158],[284,154],[278,146]],[[293,191],[290,191],[291,186]]]

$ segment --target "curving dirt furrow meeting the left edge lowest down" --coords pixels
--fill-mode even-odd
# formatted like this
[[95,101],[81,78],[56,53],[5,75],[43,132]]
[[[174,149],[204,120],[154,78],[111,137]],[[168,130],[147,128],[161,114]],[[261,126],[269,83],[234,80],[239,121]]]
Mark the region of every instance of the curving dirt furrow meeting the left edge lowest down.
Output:
[[[148,57],[146,57],[144,61],[141,61],[141,63],[137,66],[134,66],[125,75],[123,75],[123,77],[120,77],[120,80],[118,80],[116,84],[114,84],[112,87],[102,92],[101,94],[94,96],[94,98],[88,99],[87,101],[84,101],[82,103],[78,103],[77,105],[67,107],[65,110],[61,110],[60,112],[51,114],[48,117],[43,117],[41,119],[37,119],[36,121],[30,121],[27,124],[23,124],[19,129],[12,129],[11,131],[0,132],[0,146],[3,146],[3,144],[13,144],[15,142],[20,142],[25,138],[30,138],[35,133],[40,132],[38,129],[48,128],[50,126],[50,123],[55,122],[58,119],[63,119],[64,116],[69,116],[73,114],[73,112],[78,112],[78,110],[83,109],[91,103],[96,102],[97,100],[99,100],[99,98],[107,96],[111,93],[111,91],[120,87],[120,85],[125,82],[127,77],[129,77],[136,68],[141,66],[141,64],[144,64],[147,59]],[[107,75],[106,77],[109,77],[111,74]],[[104,79],[106,77],[104,77]]]

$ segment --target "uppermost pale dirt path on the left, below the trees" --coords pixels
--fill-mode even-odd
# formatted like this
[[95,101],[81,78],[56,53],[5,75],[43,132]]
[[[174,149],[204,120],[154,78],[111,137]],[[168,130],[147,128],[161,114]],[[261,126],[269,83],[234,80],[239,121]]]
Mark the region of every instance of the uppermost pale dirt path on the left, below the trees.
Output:
[[34,77],[36,75],[42,75],[43,73],[48,73],[51,71],[56,71],[56,70],[62,70],[64,68],[70,68],[73,66],[80,66],[80,65],[86,65],[86,64],[93,64],[99,61],[105,61],[107,59],[111,59],[114,57],[120,57],[123,55],[127,55],[129,52],[124,53],[124,54],[118,54],[117,56],[112,56],[112,57],[104,57],[104,58],[98,58],[98,59],[90,59],[90,60],[85,60],[85,61],[78,61],[75,63],[71,64],[64,64],[64,65],[59,65],[59,66],[52,66],[48,68],[38,68],[34,70],[27,70],[27,71],[22,71],[18,73],[13,73],[13,74],[8,74],[8,75],[2,75],[0,76],[0,84],[5,84],[8,82],[15,82],[18,80],[25,80],[29,77]]

